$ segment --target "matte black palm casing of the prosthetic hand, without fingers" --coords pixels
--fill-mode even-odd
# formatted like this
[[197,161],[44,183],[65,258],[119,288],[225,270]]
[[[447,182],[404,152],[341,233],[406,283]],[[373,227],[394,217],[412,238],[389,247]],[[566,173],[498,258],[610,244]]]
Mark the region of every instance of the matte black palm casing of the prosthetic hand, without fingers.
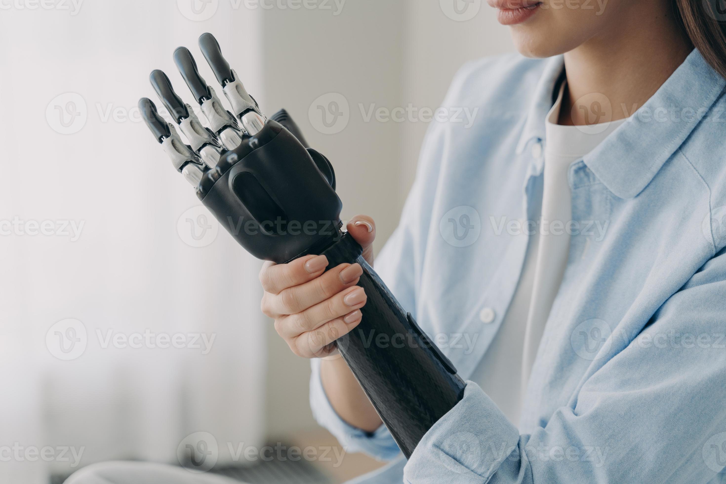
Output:
[[215,173],[205,176],[197,195],[256,258],[285,263],[342,237],[338,194],[280,123],[268,120],[255,137],[227,152],[219,168],[211,188],[205,184]]

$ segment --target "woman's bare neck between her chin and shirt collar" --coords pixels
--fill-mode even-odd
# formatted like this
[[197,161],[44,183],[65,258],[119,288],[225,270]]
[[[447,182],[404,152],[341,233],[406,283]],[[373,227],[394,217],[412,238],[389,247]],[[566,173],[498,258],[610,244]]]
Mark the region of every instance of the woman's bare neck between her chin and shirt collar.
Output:
[[688,57],[693,46],[674,13],[654,3],[633,2],[617,32],[594,36],[565,54],[567,89],[559,124],[628,118]]

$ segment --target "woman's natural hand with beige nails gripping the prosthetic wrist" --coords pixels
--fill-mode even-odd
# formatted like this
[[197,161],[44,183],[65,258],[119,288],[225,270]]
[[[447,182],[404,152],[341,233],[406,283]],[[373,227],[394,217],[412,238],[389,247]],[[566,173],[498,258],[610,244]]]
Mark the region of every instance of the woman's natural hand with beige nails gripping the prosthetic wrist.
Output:
[[[373,219],[356,216],[347,229],[372,264]],[[356,286],[363,274],[360,264],[340,264],[324,273],[327,264],[325,255],[307,255],[287,264],[266,262],[260,271],[262,312],[274,319],[290,350],[303,358],[337,353],[333,342],[358,326],[366,303],[363,288]]]

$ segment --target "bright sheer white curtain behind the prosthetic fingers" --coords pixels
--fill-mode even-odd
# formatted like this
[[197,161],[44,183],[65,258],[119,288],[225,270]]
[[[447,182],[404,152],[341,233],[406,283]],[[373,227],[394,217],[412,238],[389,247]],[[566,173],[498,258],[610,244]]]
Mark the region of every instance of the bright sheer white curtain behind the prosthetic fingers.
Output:
[[[260,263],[223,231],[205,247],[185,243],[177,222],[200,201],[134,116],[139,97],[155,97],[154,68],[192,102],[171,54],[181,44],[198,53],[207,30],[238,46],[228,49],[237,51],[232,60],[250,90],[260,89],[259,21],[225,2],[205,22],[181,15],[176,1],[85,1],[75,14],[18,4],[25,2],[0,10],[0,221],[71,220],[83,231],[77,240],[0,235],[0,446],[82,447],[86,465],[176,462],[181,439],[200,430],[216,436],[221,460],[229,459],[228,441],[261,443]],[[52,99],[69,92],[83,99],[73,111],[86,121],[64,112],[78,131],[61,134],[46,107],[58,120],[54,107],[70,106]],[[46,344],[46,332],[65,319],[84,327],[75,337],[86,350],[71,361]],[[216,340],[208,354],[104,347],[97,330]],[[61,461],[1,464],[3,483],[47,483],[49,469],[73,470]]]

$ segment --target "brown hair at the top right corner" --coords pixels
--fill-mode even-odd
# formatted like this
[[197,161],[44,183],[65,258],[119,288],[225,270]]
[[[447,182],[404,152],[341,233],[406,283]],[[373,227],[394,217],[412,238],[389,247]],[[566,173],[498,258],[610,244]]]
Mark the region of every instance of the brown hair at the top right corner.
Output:
[[673,3],[693,46],[726,78],[726,2],[673,0]]

